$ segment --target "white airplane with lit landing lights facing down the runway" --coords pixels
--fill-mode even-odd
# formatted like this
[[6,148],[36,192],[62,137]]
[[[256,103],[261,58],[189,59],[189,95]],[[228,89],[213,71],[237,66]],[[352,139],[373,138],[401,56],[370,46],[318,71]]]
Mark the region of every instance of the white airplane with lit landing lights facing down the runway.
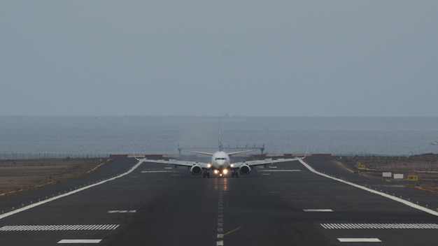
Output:
[[[238,161],[232,163],[229,159],[234,154],[241,154],[245,152],[251,152],[254,150],[243,150],[238,152],[227,153],[222,147],[222,133],[221,126],[219,122],[219,150],[214,153],[199,152],[192,150],[185,150],[186,152],[192,152],[195,154],[205,154],[211,156],[211,161],[209,163],[197,162],[197,161],[177,161],[175,159],[167,160],[155,160],[155,159],[137,159],[143,162],[153,162],[160,164],[169,164],[176,166],[187,166],[190,169],[192,175],[202,175],[203,178],[210,178],[210,172],[218,175],[220,178],[231,173],[232,178],[239,178],[240,175],[248,175],[254,166],[269,165],[278,162],[286,161],[297,161],[299,157],[292,159],[264,159],[264,160],[253,160],[253,161]],[[304,159],[306,156],[302,157]],[[135,157],[134,157],[135,158]]]

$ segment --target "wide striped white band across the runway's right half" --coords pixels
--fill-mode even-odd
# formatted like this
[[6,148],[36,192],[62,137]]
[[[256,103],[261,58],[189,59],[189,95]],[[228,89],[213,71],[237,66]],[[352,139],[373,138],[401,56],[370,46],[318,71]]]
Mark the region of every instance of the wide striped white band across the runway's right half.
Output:
[[438,224],[321,224],[324,229],[438,229]]

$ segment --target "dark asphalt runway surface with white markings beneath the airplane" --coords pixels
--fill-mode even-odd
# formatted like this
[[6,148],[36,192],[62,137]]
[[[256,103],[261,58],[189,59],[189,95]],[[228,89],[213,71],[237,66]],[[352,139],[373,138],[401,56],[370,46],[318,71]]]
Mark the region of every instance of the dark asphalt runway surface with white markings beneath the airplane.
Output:
[[84,178],[0,198],[0,245],[437,244],[433,210],[381,194],[397,189],[431,206],[436,195],[370,181],[324,158],[305,161],[339,180],[299,161],[202,178],[188,168],[116,159]]

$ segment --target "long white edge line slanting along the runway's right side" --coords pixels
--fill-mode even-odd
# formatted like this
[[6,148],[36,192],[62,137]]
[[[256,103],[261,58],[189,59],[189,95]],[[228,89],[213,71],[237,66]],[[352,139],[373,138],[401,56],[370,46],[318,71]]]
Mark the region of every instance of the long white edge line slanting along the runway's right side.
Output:
[[369,188],[367,188],[367,187],[363,187],[362,185],[355,184],[355,183],[353,183],[353,182],[348,182],[348,181],[346,181],[346,180],[341,180],[341,179],[339,179],[339,178],[334,178],[334,177],[332,177],[332,176],[330,176],[330,175],[327,175],[327,174],[325,174],[325,173],[320,173],[320,172],[316,171],[315,169],[313,169],[309,164],[306,164],[306,162],[303,161],[302,159],[298,159],[298,161],[301,162],[301,164],[302,164],[303,166],[305,166],[307,169],[309,169],[309,171],[311,171],[312,173],[316,173],[316,174],[318,174],[318,175],[320,175],[320,176],[323,176],[323,177],[325,177],[325,178],[330,178],[330,179],[332,179],[332,180],[336,180],[336,181],[338,181],[338,182],[341,182],[341,183],[344,183],[344,184],[348,184],[348,185],[351,185],[351,186],[353,186],[353,187],[356,187],[356,188],[359,188],[359,189],[363,189],[363,190],[365,190],[365,191],[369,191],[369,192],[371,192],[371,193],[373,193],[373,194],[377,194],[377,195],[379,195],[379,196],[383,196],[383,197],[386,197],[386,198],[390,198],[390,199],[393,200],[393,201],[397,201],[397,202],[399,202],[399,203],[403,203],[404,205],[408,205],[409,207],[411,207],[411,208],[415,208],[416,210],[421,210],[421,211],[423,211],[423,212],[427,212],[427,213],[430,214],[430,215],[438,216],[438,212],[436,212],[436,211],[434,211],[434,210],[430,210],[430,209],[428,209],[428,208],[421,207],[421,205],[418,205],[418,204],[415,204],[415,203],[411,203],[410,201],[405,201],[405,200],[403,200],[402,198],[398,198],[398,197],[395,197],[395,196],[391,196],[390,194],[386,194],[386,193],[383,193],[383,192],[381,192],[381,191],[376,191],[376,190],[374,190],[374,189],[369,189]]

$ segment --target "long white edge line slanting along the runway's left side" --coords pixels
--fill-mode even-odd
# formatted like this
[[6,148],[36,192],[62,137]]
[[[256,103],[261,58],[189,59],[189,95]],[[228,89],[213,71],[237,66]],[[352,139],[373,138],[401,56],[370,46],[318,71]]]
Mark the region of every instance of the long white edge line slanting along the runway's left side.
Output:
[[134,170],[136,170],[136,168],[138,168],[141,164],[143,164],[143,161],[142,161],[142,160],[140,160],[137,164],[135,164],[134,166],[132,166],[132,168],[129,169],[126,173],[122,173],[122,174],[120,174],[120,175],[118,175],[118,176],[115,176],[115,177],[113,177],[113,178],[108,178],[108,180],[103,180],[103,181],[101,181],[101,182],[97,182],[97,183],[95,183],[95,184],[90,184],[90,185],[88,185],[88,186],[85,186],[85,187],[82,187],[82,188],[79,188],[79,189],[75,189],[75,190],[70,191],[70,192],[67,192],[67,193],[65,193],[65,194],[62,194],[62,195],[59,195],[59,196],[54,196],[54,197],[52,197],[52,198],[48,198],[47,200],[39,201],[38,203],[34,203],[34,204],[31,204],[31,205],[27,205],[27,206],[25,206],[25,207],[23,207],[23,208],[19,208],[19,209],[17,209],[17,210],[13,210],[13,211],[10,211],[10,212],[6,212],[6,213],[4,213],[3,215],[0,215],[0,219],[4,219],[4,218],[6,218],[6,217],[9,217],[10,215],[15,215],[15,214],[17,214],[17,213],[19,213],[19,212],[23,212],[23,211],[29,210],[29,209],[31,209],[31,208],[38,207],[39,205],[43,205],[43,204],[45,204],[45,203],[50,203],[51,201],[55,201],[55,200],[57,200],[57,199],[59,199],[59,198],[63,198],[63,197],[65,197],[65,196],[71,196],[71,195],[76,194],[76,193],[78,193],[78,192],[80,192],[80,191],[84,191],[85,189],[90,189],[90,188],[92,188],[92,187],[95,187],[95,186],[98,186],[98,185],[101,185],[101,184],[105,184],[106,182],[110,182],[110,181],[113,181],[113,180],[117,180],[118,178],[122,178],[123,176],[128,175],[129,173],[132,173],[132,172],[133,172]]

